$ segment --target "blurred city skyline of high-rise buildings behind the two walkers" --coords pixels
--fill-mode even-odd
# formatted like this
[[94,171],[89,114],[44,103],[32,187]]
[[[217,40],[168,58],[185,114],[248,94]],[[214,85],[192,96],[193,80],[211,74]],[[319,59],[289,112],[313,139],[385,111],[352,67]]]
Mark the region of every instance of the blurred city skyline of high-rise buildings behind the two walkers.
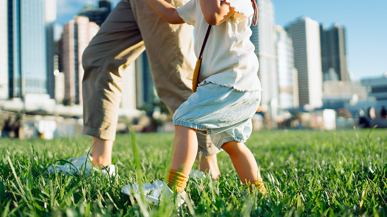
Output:
[[[271,127],[277,127],[275,120],[281,118],[277,116],[282,114],[281,109],[337,109],[356,105],[359,100],[365,107],[386,99],[384,83],[363,84],[367,77],[361,82],[350,81],[346,26],[318,22],[307,15],[284,26],[276,25],[272,0],[256,1],[259,16],[257,25],[251,26],[250,40],[260,61],[258,76],[266,90],[262,91],[260,111],[269,114]],[[0,61],[6,68],[0,74],[0,99],[8,100],[6,103],[14,106],[10,108],[22,108],[21,102],[32,105],[39,98],[46,99],[42,103],[50,104],[50,109],[55,102],[62,106],[82,105],[82,53],[107,16],[105,12],[110,11],[110,2],[84,4],[73,20],[65,22],[61,40],[54,42],[56,2],[14,0],[3,4],[7,15],[0,16],[0,36],[5,39]],[[31,62],[32,59],[36,61]],[[134,110],[157,104],[150,74],[144,52],[122,76],[124,83],[130,85],[122,89],[121,108]],[[387,72],[383,73],[383,82],[385,78]]]

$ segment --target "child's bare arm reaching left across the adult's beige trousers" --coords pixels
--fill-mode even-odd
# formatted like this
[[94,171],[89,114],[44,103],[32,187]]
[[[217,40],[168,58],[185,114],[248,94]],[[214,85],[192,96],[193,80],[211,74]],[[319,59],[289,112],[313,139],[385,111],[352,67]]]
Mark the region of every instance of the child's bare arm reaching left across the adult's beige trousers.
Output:
[[170,24],[185,23],[173,5],[164,0],[147,0],[152,9]]

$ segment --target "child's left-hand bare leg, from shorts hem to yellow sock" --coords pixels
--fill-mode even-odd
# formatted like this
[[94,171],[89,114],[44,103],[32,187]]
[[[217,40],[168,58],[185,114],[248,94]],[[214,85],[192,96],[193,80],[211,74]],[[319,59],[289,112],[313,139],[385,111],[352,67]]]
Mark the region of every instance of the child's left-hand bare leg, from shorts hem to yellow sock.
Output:
[[171,169],[189,175],[197,153],[197,137],[194,129],[175,125]]

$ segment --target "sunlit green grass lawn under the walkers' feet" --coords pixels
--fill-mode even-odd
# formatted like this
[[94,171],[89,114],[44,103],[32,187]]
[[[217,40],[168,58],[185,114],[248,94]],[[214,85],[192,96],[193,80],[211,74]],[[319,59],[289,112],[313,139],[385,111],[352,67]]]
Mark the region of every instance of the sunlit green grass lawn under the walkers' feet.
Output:
[[[357,131],[357,133],[356,133]],[[0,139],[0,217],[5,216],[386,216],[387,131],[261,131],[246,145],[266,183],[256,198],[241,185],[225,152],[222,177],[188,182],[187,206],[130,201],[126,184],[164,179],[173,134],[117,135],[115,177],[48,174],[55,160],[81,156],[91,138]],[[137,164],[136,164],[136,160]],[[57,162],[61,163],[61,162]],[[137,165],[137,166],[136,166]],[[140,173],[135,168],[140,167]],[[196,167],[196,165],[194,165]]]

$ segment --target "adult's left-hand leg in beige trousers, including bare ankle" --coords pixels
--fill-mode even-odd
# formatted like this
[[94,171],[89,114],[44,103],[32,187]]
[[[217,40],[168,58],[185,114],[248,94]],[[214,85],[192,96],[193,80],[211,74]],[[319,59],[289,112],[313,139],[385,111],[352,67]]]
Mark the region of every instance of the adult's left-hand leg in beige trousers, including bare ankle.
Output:
[[130,2],[122,0],[82,55],[83,133],[93,136],[94,166],[111,164],[122,96],[121,73],[144,50]]

